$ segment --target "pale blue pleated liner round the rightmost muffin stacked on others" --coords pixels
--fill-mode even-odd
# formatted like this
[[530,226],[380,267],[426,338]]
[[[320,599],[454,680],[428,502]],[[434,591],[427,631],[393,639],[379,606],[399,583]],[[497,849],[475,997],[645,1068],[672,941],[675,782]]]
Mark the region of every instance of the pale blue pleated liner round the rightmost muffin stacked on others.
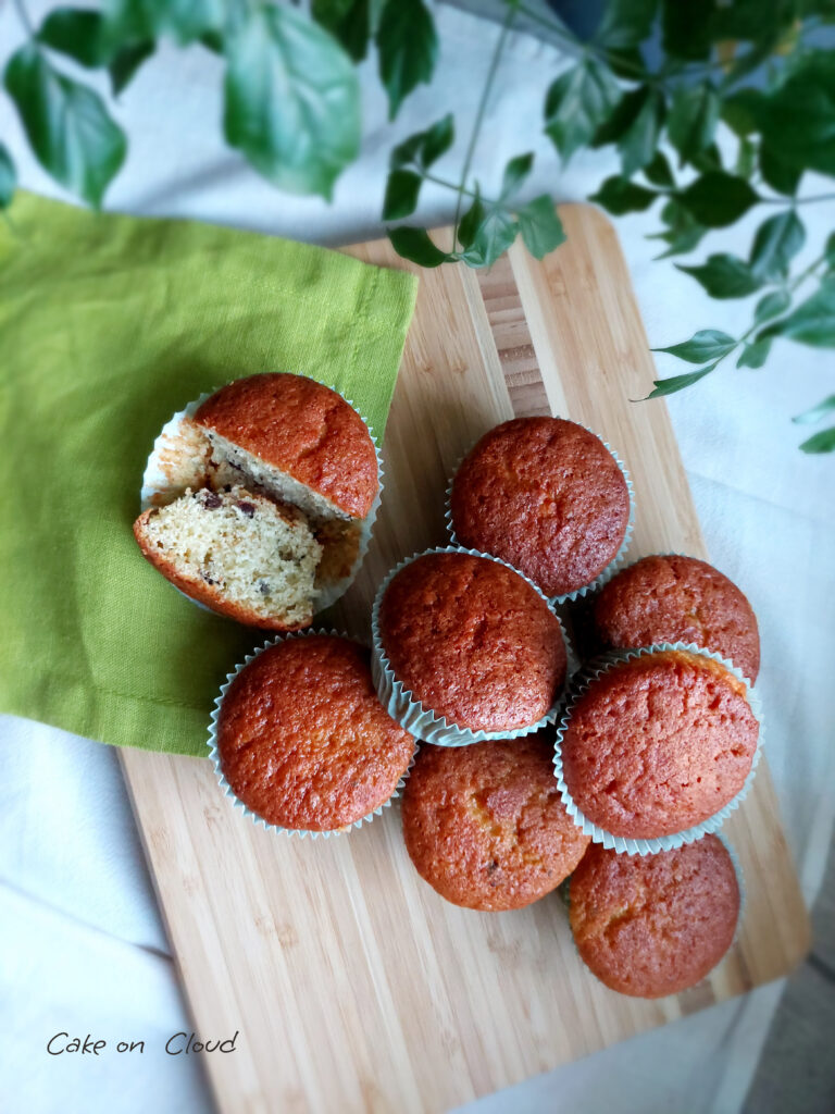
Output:
[[[621,662],[628,662],[633,657],[642,657],[646,654],[657,654],[662,651],[684,651],[689,654],[694,654],[697,657],[709,657],[714,662],[719,662],[724,665],[726,670],[734,674],[734,676],[745,685],[746,697],[748,705],[750,706],[754,716],[759,724],[759,732],[757,736],[757,749],[754,752],[754,758],[752,761],[750,770],[748,771],[748,776],[745,779],[745,783],[736,797],[731,798],[727,804],[723,805],[717,812],[707,820],[703,820],[701,823],[694,824],[691,828],[687,828],[680,832],[674,832],[671,836],[659,836],[656,839],[627,839],[622,836],[613,836],[611,832],[607,831],[605,828],[600,828],[598,824],[593,823],[588,819],[574,802],[566,784],[564,778],[562,775],[562,740],[566,731],[571,722],[571,712],[573,706],[580,700],[580,697],[588,692],[591,684],[601,677],[603,674],[608,673],[615,665]],[[611,850],[618,851],[625,854],[654,854],[658,851],[670,851],[672,848],[681,847],[684,843],[692,843],[695,840],[700,839],[708,832],[716,832],[721,828],[723,823],[727,820],[731,812],[739,808],[740,803],[745,800],[750,791],[752,783],[754,781],[754,775],[756,773],[757,763],[759,762],[759,756],[763,750],[763,710],[758,696],[754,692],[753,686],[743,676],[741,670],[739,670],[733,662],[729,662],[726,657],[720,654],[716,654],[709,649],[703,649],[700,646],[694,646],[692,643],[658,643],[655,646],[641,646],[639,649],[627,649],[627,651],[612,651],[608,654],[603,654],[601,657],[597,658],[595,662],[590,663],[587,670],[580,674],[578,681],[576,681],[569,693],[566,707],[560,721],[559,727],[557,729],[557,739],[554,742],[554,755],[553,755],[553,770],[557,778],[557,783],[559,785],[560,793],[562,795],[562,801],[566,809],[573,820],[573,822],[581,828],[587,836],[591,836],[593,843],[602,843],[603,847]]]

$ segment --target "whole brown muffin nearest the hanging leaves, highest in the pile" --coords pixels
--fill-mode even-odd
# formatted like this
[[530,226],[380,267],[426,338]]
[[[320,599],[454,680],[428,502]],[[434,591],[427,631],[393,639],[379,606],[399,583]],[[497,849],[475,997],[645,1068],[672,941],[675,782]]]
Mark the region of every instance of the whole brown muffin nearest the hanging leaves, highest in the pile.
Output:
[[562,418],[514,418],[462,461],[450,521],[462,546],[494,554],[547,596],[593,584],[619,556],[629,487],[600,438]]

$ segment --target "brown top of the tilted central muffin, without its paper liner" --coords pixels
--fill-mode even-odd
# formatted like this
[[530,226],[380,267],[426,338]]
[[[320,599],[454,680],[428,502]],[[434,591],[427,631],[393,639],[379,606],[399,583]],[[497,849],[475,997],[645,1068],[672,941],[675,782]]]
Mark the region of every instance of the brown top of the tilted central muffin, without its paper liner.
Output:
[[410,561],[385,590],[380,634],[413,698],[459,727],[538,723],[566,681],[557,616],[489,557],[432,553]]

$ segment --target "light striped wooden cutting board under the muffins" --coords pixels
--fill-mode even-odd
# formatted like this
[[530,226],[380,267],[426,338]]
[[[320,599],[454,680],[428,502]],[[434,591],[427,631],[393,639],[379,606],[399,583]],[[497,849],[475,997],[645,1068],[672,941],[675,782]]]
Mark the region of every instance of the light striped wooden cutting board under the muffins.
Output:
[[[568,244],[543,263],[517,245],[489,272],[421,272],[382,512],[341,607],[352,633],[367,637],[392,565],[445,544],[451,469],[514,413],[568,416],[617,448],[631,559],[707,556],[665,403],[629,401],[655,370],[615,232],[587,206],[561,216]],[[350,251],[404,265],[384,241]],[[777,978],[809,946],[767,761],[725,829],[747,890],[737,944],[692,990],[640,1001],[582,967],[558,895],[507,913],[443,901],[412,869],[396,805],[347,837],[288,839],[234,811],[208,761],[121,759],[198,1036],[239,1030],[234,1053],[205,1058],[228,1114],[445,1111]]]

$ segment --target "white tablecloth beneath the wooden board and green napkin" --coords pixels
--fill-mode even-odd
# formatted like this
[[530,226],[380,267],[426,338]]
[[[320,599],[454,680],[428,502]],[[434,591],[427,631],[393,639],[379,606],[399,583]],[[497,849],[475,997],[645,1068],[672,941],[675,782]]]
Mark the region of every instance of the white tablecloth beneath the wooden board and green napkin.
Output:
[[[50,4],[29,7],[38,20]],[[275,192],[225,149],[220,62],[199,48],[164,49],[115,109],[130,136],[130,153],[108,207],[321,243],[377,234],[387,153],[397,138],[454,106],[461,130],[445,158],[451,176],[460,165],[497,29],[450,9],[439,12],[439,25],[438,76],[406,102],[395,126],[386,121],[373,63],[365,65],[363,155],[340,180],[330,207]],[[7,4],[0,12],[0,63],[21,37]],[[525,149],[537,152],[530,196],[549,188],[566,199],[581,198],[613,173],[612,154],[605,150],[577,157],[560,174],[541,134],[543,90],[564,65],[552,48],[511,38],[474,162],[485,192],[503,162]],[[24,186],[65,196],[30,156],[8,99],[0,100],[0,137]],[[449,194],[426,189],[422,215],[443,221],[451,209]],[[809,206],[803,216],[813,247],[835,224],[832,206]],[[699,257],[708,251],[745,254],[756,219],[714,234]],[[747,325],[747,304],[711,302],[672,263],[651,262],[658,245],[645,236],[656,231],[652,216],[623,218],[618,229],[652,345],[684,340],[700,328],[733,333]],[[664,374],[686,370],[668,358],[658,365]],[[827,792],[835,759],[828,656],[835,457],[798,452],[807,431],[788,419],[831,393],[832,371],[832,353],[778,342],[765,369],[736,371],[729,363],[669,401],[711,558],[740,584],[759,616],[768,761],[809,902],[821,883],[835,813],[835,795]],[[0,753],[3,1110],[208,1110],[197,1058],[163,1052],[165,1040],[188,1023],[116,754],[8,716],[0,720]],[[762,988],[483,1100],[475,1110],[735,1112],[779,994],[779,984]],[[59,1032],[105,1038],[108,1048],[99,1056],[49,1056],[46,1044]],[[118,1040],[139,1039],[144,1054],[114,1052]]]

